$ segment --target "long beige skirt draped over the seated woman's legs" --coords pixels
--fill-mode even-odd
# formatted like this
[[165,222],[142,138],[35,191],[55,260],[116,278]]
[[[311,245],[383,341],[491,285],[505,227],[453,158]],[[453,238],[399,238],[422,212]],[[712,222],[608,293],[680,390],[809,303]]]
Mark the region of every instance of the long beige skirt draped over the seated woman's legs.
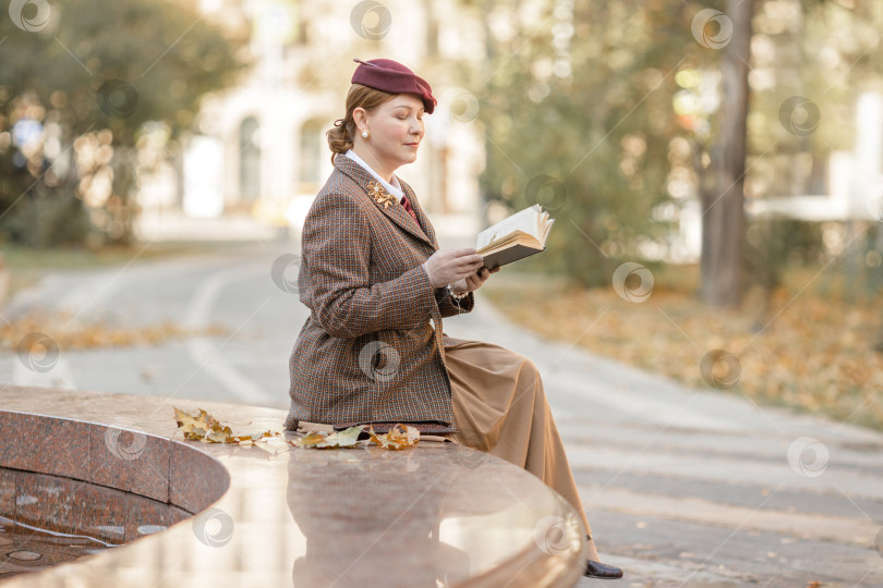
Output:
[[445,346],[451,382],[453,438],[523,467],[589,518],[536,366],[528,357],[483,341]]

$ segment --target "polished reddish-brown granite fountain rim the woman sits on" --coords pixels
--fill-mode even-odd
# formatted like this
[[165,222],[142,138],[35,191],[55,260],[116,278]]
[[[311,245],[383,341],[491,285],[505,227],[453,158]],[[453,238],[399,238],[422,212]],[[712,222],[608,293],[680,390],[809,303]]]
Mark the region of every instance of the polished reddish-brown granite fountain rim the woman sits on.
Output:
[[[577,513],[505,461],[426,441],[401,452],[183,442],[172,405],[205,408],[237,432],[280,430],[285,418],[232,404],[0,391],[0,467],[80,480],[84,489],[117,487],[171,509],[166,530],[153,526],[146,530],[159,532],[129,543],[123,529],[123,547],[15,576],[4,588],[534,587],[580,578]],[[0,511],[8,486],[0,478]],[[156,514],[126,503],[109,509],[135,532],[133,520]],[[100,512],[84,505],[80,520]]]

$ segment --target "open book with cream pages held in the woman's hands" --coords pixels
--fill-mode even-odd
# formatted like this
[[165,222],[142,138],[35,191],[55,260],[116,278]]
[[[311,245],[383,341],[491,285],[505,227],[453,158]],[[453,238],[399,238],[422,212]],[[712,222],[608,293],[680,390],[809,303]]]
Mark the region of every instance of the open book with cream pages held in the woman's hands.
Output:
[[505,266],[545,249],[553,224],[555,219],[535,204],[479,233],[475,249],[487,269]]

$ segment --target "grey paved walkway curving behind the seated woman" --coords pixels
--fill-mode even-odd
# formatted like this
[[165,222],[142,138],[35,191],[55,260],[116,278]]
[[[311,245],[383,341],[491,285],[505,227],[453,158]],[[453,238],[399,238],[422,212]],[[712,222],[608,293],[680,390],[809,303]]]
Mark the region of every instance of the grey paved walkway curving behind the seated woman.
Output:
[[[306,318],[297,293],[285,291],[295,272],[273,278],[290,253],[253,243],[56,273],[4,316],[66,308],[73,320],[57,330],[106,317],[221,324],[227,335],[61,350],[45,373],[7,353],[0,381],[285,407],[288,354]],[[540,367],[602,554],[627,571],[581,587],[883,586],[883,436],[759,408],[738,392],[689,390],[541,340],[481,295],[445,331],[505,345]]]

